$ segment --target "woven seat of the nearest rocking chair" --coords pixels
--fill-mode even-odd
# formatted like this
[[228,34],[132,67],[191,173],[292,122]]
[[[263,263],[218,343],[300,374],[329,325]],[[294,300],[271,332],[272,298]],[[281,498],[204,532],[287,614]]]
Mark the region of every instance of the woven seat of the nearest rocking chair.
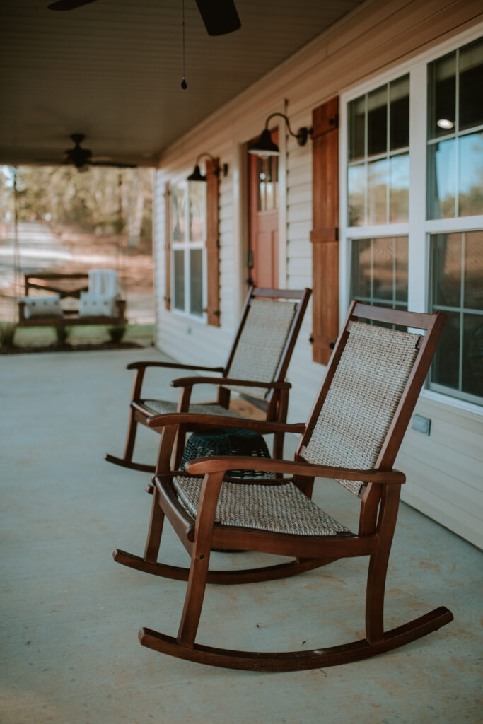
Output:
[[[173,486],[182,505],[196,518],[203,478],[177,476]],[[348,528],[308,499],[292,482],[244,485],[224,482],[214,522],[298,536],[352,536]]]

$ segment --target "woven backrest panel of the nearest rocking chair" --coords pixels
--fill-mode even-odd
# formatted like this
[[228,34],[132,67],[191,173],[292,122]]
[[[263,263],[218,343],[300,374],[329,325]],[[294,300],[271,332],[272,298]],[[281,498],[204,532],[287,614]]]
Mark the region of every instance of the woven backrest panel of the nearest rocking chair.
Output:
[[[419,336],[353,322],[303,458],[361,470],[376,466],[419,352]],[[339,482],[355,495],[363,487]]]

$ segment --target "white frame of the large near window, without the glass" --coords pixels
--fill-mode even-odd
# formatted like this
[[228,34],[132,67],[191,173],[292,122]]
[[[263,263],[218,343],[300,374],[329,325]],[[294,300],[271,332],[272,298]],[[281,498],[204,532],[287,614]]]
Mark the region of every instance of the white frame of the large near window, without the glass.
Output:
[[[344,319],[350,302],[350,245],[352,240],[408,235],[408,309],[429,309],[429,235],[483,229],[483,214],[455,219],[426,219],[427,159],[427,65],[483,35],[483,22],[434,46],[416,58],[372,76],[340,94],[339,134],[339,314]],[[348,103],[355,98],[397,80],[409,73],[409,221],[403,224],[377,224],[348,227]],[[418,112],[411,112],[417,108]],[[461,397],[425,388],[424,397],[483,416],[483,407]]]

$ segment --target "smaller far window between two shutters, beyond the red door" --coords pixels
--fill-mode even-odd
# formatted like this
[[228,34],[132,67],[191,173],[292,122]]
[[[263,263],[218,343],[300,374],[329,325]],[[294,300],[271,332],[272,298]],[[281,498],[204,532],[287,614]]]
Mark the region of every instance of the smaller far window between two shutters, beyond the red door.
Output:
[[206,183],[174,182],[170,199],[173,307],[176,311],[203,318],[206,308]]

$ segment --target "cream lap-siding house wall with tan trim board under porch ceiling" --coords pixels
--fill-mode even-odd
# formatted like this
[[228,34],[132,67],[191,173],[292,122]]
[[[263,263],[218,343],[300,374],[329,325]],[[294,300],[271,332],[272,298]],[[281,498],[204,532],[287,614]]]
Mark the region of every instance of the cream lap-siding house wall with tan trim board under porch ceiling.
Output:
[[[202,364],[226,361],[246,290],[244,144],[261,132],[266,117],[282,111],[293,129],[310,127],[312,109],[328,98],[397,68],[449,38],[471,32],[482,20],[478,2],[368,1],[162,153],[155,184],[156,345],[161,350],[188,363],[195,358]],[[479,34],[483,34],[483,23]],[[311,287],[311,142],[301,148],[281,132],[280,150],[280,286]],[[227,177],[220,177],[219,195],[220,327],[168,312],[163,301],[164,185],[187,176],[202,151],[229,164]],[[343,253],[341,264],[345,264]],[[341,277],[345,274],[341,267]],[[340,321],[349,301],[347,285],[342,288]],[[293,383],[290,421],[307,417],[324,376],[324,366],[311,361],[310,334],[311,308],[288,374]],[[432,429],[429,437],[413,430],[406,434],[397,461],[408,477],[403,500],[481,546],[480,411],[475,405],[424,392],[416,412],[431,418]]]

